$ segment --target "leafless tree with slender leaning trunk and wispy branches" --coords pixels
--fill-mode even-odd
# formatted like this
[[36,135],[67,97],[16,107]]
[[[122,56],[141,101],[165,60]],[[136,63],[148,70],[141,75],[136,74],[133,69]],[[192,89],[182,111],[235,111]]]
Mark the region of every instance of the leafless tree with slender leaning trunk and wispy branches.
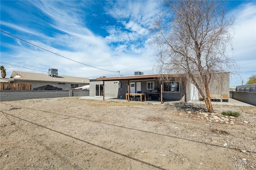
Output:
[[170,11],[154,22],[158,70],[185,75],[213,113],[209,91],[212,77],[236,66],[226,55],[226,48],[232,47],[230,31],[235,18],[225,15],[222,1],[184,0],[166,4]]

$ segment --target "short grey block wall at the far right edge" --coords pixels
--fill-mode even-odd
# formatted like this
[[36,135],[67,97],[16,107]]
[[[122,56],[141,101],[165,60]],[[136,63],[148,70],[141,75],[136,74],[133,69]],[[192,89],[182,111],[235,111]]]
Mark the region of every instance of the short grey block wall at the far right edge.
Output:
[[256,106],[256,92],[233,91],[233,99]]

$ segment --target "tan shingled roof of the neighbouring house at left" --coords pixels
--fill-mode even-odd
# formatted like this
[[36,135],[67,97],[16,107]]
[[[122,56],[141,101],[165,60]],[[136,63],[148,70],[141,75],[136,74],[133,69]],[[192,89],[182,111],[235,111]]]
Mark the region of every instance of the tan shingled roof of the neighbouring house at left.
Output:
[[30,73],[23,71],[13,71],[8,81],[47,81],[47,82],[65,82],[65,83],[89,83],[89,79],[82,77],[71,77],[67,75],[59,75],[51,77],[42,73]]

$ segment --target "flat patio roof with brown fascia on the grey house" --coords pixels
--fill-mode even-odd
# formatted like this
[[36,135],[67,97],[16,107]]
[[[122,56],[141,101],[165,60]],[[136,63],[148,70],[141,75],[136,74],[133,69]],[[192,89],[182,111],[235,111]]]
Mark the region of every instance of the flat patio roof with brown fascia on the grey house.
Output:
[[178,77],[182,73],[174,74],[149,74],[149,75],[130,75],[130,76],[120,76],[120,77],[101,77],[96,78],[96,80],[102,81],[115,81],[115,80],[143,80],[143,79],[157,79],[160,77]]

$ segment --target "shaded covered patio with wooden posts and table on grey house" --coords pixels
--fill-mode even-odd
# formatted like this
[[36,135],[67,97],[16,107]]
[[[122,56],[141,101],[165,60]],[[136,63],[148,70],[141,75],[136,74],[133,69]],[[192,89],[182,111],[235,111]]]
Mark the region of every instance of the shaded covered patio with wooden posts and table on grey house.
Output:
[[[97,81],[103,82],[102,97],[105,100],[106,89],[112,89],[110,83],[118,83],[117,98],[125,97],[126,101],[186,101],[186,84],[179,77],[181,74],[154,74],[133,75],[120,77],[100,77]],[[170,81],[163,81],[169,77]]]

